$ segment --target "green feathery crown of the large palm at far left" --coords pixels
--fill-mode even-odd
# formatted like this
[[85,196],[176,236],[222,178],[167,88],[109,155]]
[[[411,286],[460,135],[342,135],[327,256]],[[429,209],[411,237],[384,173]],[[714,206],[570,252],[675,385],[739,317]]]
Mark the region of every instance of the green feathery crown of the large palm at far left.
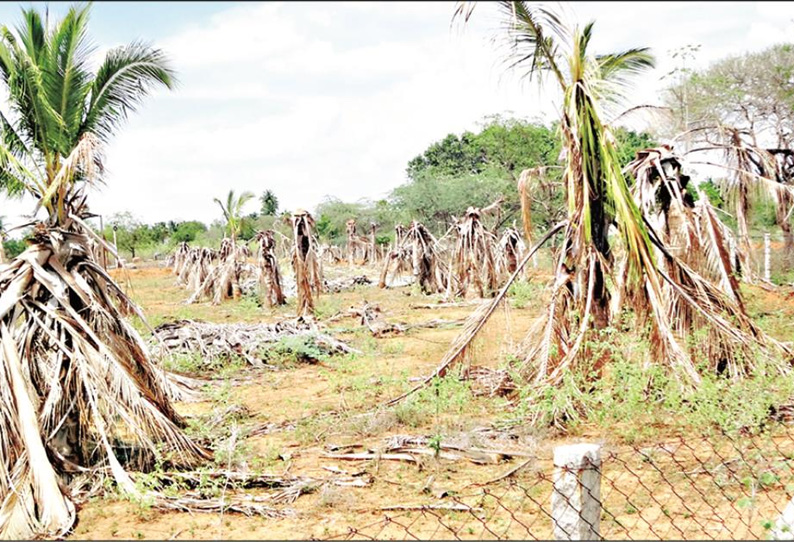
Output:
[[175,83],[162,51],[140,42],[110,50],[92,72],[89,12],[71,7],[50,28],[23,10],[16,29],[0,28],[9,104],[0,111],[0,189],[31,193],[59,224],[101,173],[101,145],[154,87]]

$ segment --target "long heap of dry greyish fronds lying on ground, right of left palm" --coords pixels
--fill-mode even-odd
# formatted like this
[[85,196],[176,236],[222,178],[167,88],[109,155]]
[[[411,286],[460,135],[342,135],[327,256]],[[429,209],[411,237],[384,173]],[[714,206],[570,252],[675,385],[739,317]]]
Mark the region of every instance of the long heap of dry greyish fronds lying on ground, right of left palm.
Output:
[[206,364],[239,357],[254,367],[272,367],[268,352],[285,337],[305,337],[323,355],[357,352],[302,318],[275,324],[168,322],[154,329],[152,350],[163,355],[198,354]]

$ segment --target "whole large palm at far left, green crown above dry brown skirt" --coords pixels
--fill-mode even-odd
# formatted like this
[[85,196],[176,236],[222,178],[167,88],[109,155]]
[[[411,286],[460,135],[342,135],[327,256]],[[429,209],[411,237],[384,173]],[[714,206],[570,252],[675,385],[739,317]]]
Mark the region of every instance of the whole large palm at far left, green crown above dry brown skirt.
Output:
[[174,463],[206,457],[181,430],[178,390],[125,320],[139,309],[94,259],[97,244],[112,247],[86,224],[103,146],[174,72],[138,42],[91,71],[88,6],[49,25],[35,9],[22,15],[0,29],[0,189],[29,193],[44,218],[0,271],[0,538],[63,536],[75,519],[68,483],[86,468],[109,466],[135,494],[119,440]]

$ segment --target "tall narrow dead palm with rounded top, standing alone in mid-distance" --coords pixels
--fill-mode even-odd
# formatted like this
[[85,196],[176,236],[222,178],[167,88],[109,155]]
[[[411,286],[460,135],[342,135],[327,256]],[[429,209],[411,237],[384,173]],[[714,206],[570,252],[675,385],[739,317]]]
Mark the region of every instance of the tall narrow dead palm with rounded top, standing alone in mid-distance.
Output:
[[298,316],[314,314],[314,298],[322,292],[322,269],[314,239],[314,219],[303,210],[292,215],[292,268],[298,292]]

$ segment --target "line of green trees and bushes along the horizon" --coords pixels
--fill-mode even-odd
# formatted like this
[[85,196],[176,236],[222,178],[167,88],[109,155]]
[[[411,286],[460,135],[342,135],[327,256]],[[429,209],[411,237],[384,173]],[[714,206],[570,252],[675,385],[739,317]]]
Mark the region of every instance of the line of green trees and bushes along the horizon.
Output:
[[[676,55],[691,59],[696,51],[697,47],[690,46]],[[749,144],[792,147],[794,46],[781,44],[735,55],[702,70],[677,68],[673,75],[675,80],[666,91],[666,105],[672,112],[669,117],[656,123],[650,133],[616,129],[622,163],[631,161],[638,149],[654,146],[674,134],[688,134],[676,143],[685,150],[714,143],[724,135],[726,127],[739,130]],[[504,198],[500,223],[520,222],[518,177],[524,169],[555,166],[560,162],[557,130],[556,123],[545,125],[499,115],[486,117],[477,131],[448,134],[411,159],[406,167],[406,182],[384,199],[346,202],[328,196],[314,209],[317,233],[322,241],[341,245],[346,238],[345,222],[355,217],[362,234],[371,223],[377,224],[377,239],[384,244],[392,240],[395,224],[407,224],[411,220],[419,220],[435,234],[441,234],[453,217],[460,216],[469,206],[484,207],[500,196]],[[553,167],[548,170],[550,186],[555,186],[560,174]],[[730,172],[696,181],[700,181],[701,189],[723,211],[726,223],[735,226],[734,209],[740,191],[737,183],[731,182]],[[791,235],[792,213],[787,214],[781,208],[790,202],[775,198],[763,185],[744,197],[748,199],[751,232],[782,228],[784,235]],[[266,228],[288,235],[286,218],[290,213],[279,207],[276,194],[265,190],[257,203],[257,210],[242,216],[239,238],[250,240],[257,230]],[[538,232],[556,222],[564,211],[563,205],[562,189],[555,188],[533,198],[533,224]],[[119,248],[127,257],[165,253],[183,241],[217,246],[227,233],[227,224],[220,213],[218,220],[210,224],[197,220],[144,224],[131,213],[119,213],[105,219],[103,233],[108,239],[113,238],[114,226]],[[4,238],[8,256],[24,249],[23,238],[19,234]]]

